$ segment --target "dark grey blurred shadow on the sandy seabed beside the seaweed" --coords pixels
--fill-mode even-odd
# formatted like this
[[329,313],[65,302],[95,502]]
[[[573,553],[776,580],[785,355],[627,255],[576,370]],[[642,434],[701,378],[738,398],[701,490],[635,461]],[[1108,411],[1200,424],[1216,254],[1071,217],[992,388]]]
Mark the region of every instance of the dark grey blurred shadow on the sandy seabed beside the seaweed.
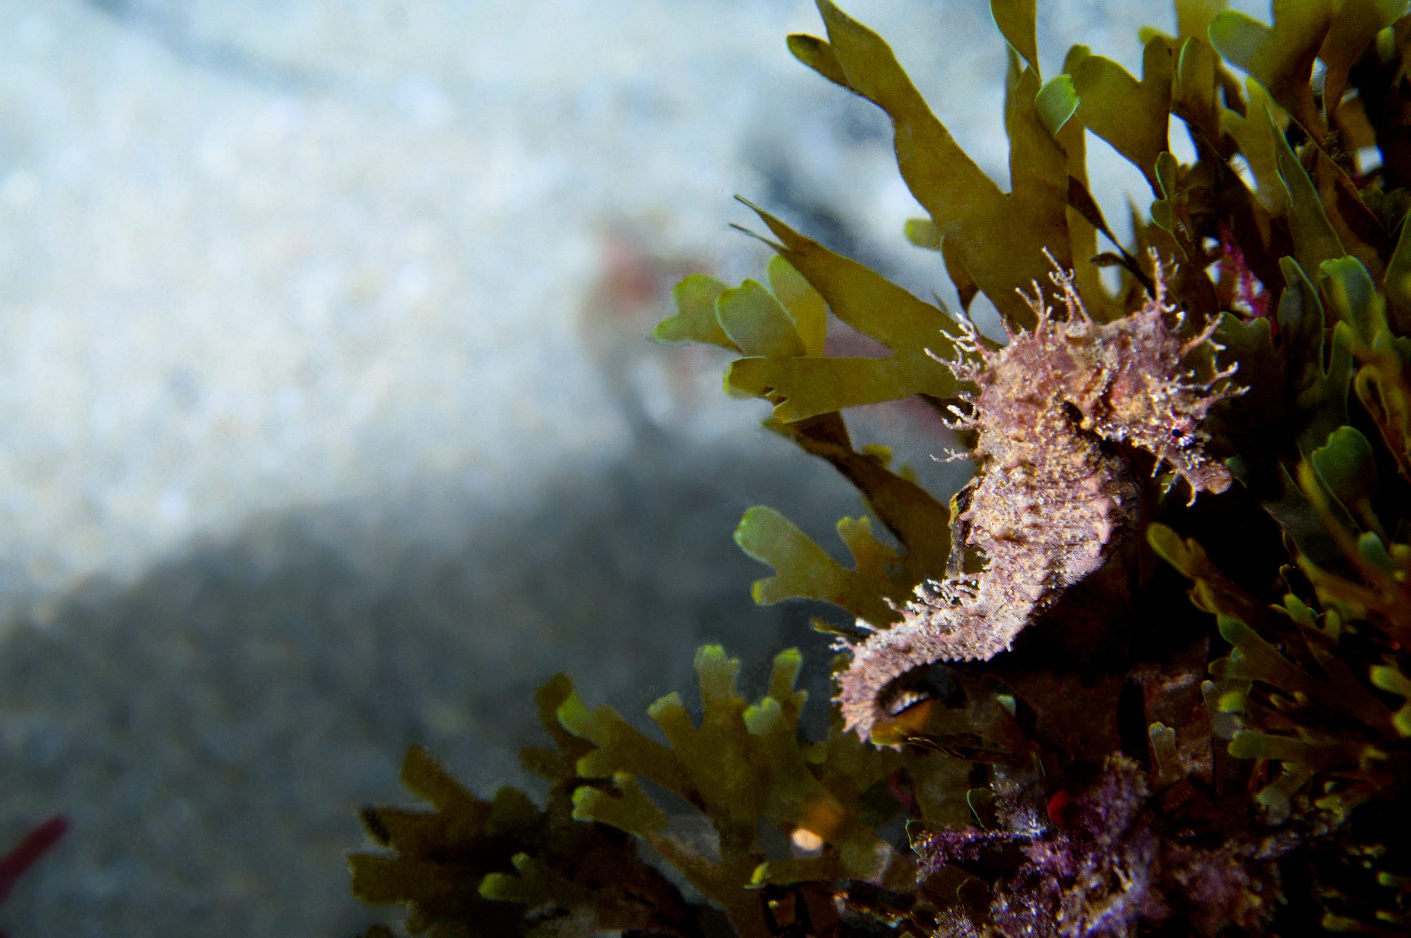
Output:
[[763,502],[830,544],[855,495],[782,441],[669,443],[525,508],[447,484],[264,519],[20,623],[0,642],[0,836],[54,811],[73,828],[0,922],[13,938],[351,934],[381,917],[347,891],[356,808],[406,800],[413,742],[483,794],[522,780],[532,691],[557,670],[641,722],[691,687],[701,642],[745,662],[749,695],[800,645],[821,707],[818,609],[753,607],[768,570],[729,535]]

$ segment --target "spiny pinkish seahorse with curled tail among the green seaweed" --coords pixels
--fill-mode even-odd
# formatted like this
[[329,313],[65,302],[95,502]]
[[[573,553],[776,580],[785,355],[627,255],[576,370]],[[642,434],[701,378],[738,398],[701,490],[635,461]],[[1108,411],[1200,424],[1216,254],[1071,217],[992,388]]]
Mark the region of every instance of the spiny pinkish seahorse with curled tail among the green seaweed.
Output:
[[[1197,378],[1182,360],[1215,343],[1218,320],[1194,337],[1165,299],[1160,267],[1153,295],[1136,312],[1094,322],[1070,272],[1051,275],[1067,309],[1055,320],[1034,285],[1026,296],[1037,324],[991,350],[961,323],[959,360],[937,358],[978,391],[954,406],[955,425],[976,430],[978,463],[968,505],[954,519],[961,542],[978,549],[979,573],[928,580],[902,607],[903,618],[847,647],[852,662],[835,698],[844,724],[862,739],[892,715],[889,686],[937,662],[988,660],[1067,588],[1096,571],[1136,519],[1140,489],[1125,447],[1156,456],[1197,492],[1222,492],[1230,473],[1206,453],[1211,408],[1243,394],[1236,365]],[[1174,327],[1167,317],[1174,319]],[[962,456],[962,454],[952,454]],[[958,568],[952,564],[952,570]],[[889,707],[890,702],[890,707]]]

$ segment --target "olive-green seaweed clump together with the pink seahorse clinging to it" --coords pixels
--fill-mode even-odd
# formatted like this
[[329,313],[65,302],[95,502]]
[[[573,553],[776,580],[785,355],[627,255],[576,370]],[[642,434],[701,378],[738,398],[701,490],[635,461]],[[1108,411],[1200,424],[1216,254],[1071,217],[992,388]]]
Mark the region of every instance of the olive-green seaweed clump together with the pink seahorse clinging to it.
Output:
[[[890,117],[927,212],[906,234],[962,309],[755,209],[768,285],[690,276],[658,329],[737,353],[727,385],[862,495],[851,566],[768,508],[735,532],[775,570],[758,601],[855,619],[824,626],[827,738],[800,731],[793,652],[749,704],[703,649],[698,715],[667,695],[659,735],[555,678],[555,748],[523,755],[545,807],[413,750],[430,810],[364,812],[388,851],[353,856],[354,890],[405,903],[409,932],[1411,927],[1407,4],[1276,0],[1263,24],[1175,0],[1140,78],[1075,47],[1047,80],[1034,7],[991,4],[1009,192],[832,3],[825,38],[789,39]],[[1127,243],[1089,137],[1150,188]],[[979,295],[1006,336],[969,323]],[[849,330],[888,354],[830,354]],[[975,461],[948,504],[849,434],[848,408],[906,398]]]

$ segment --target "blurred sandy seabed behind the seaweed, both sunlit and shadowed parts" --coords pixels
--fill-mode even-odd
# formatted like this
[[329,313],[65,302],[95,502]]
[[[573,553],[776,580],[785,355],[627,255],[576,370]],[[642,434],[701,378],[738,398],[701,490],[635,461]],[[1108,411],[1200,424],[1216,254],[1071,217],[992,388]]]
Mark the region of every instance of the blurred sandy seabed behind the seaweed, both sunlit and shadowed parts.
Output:
[[[981,0],[852,0],[998,179]],[[1136,68],[1165,3],[1043,3]],[[1254,4],[1249,4],[1254,6]],[[1267,13],[1261,4],[1259,13]],[[0,0],[0,853],[11,938],[347,935],[341,855],[426,742],[518,780],[570,670],[636,717],[756,609],[751,504],[858,501],[646,340],[766,260],[742,193],[927,295],[885,118],[804,0]],[[1095,145],[1095,150],[1101,150]],[[1106,154],[1099,154],[1106,158]],[[1106,158],[1109,216],[1139,190]],[[861,415],[940,494],[930,427]],[[755,693],[758,688],[751,687]],[[816,698],[816,702],[817,698]]]

